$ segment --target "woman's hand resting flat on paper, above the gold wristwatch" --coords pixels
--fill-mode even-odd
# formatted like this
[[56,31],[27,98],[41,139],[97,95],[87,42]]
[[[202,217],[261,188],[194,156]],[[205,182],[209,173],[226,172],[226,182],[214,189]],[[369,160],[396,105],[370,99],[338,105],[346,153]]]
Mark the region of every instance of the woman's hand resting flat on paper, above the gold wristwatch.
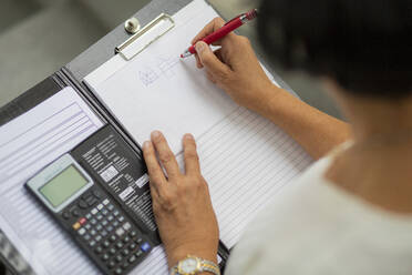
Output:
[[[185,173],[158,131],[143,145],[151,177],[153,211],[169,266],[188,254],[216,262],[219,230],[206,181],[200,174],[196,143],[183,139]],[[167,172],[167,177],[157,161]]]

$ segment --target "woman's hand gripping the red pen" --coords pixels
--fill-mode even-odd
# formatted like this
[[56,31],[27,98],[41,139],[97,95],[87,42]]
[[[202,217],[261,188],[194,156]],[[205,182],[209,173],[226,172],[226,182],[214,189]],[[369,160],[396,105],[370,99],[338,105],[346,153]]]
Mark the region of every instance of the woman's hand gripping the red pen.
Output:
[[214,43],[222,47],[215,52],[200,41],[224,24],[222,18],[215,18],[193,39],[192,43],[196,43],[197,67],[204,68],[208,79],[239,105],[262,113],[274,94],[275,85],[261,69],[249,40],[231,32]]

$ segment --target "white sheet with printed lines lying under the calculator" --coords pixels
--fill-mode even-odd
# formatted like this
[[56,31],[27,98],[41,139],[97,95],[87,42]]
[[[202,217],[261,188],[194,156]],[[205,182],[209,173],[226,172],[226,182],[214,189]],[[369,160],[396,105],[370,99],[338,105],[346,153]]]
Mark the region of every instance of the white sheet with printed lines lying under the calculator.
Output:
[[102,125],[65,88],[0,128],[0,227],[38,274],[96,273],[23,184]]

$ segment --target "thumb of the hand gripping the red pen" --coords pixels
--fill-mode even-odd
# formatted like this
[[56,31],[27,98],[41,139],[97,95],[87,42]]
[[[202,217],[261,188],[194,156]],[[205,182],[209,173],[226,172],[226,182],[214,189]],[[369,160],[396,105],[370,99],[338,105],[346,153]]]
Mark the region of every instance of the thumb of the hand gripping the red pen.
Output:
[[208,44],[206,44],[204,41],[198,41],[195,48],[202,64],[215,78],[226,78],[228,73],[230,73],[230,69],[226,64],[222,63],[222,61],[215,55]]

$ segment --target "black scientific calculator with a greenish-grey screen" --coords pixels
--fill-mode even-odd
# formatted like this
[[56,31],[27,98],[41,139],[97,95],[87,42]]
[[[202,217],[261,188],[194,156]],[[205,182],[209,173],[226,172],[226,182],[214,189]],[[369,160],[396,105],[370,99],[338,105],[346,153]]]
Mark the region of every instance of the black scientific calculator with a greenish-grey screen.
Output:
[[47,166],[25,187],[104,274],[127,274],[153,247],[127,213],[70,154]]

